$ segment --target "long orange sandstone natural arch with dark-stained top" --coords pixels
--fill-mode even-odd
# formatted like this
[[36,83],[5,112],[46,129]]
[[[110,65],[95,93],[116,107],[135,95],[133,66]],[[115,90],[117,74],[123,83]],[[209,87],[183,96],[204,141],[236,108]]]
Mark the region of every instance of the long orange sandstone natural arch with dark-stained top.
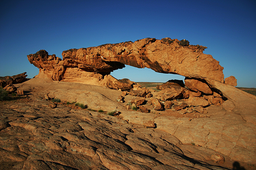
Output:
[[[117,82],[109,74],[113,70],[124,68],[125,64],[187,78],[209,78],[223,83],[223,67],[211,55],[203,53],[205,48],[189,45],[187,40],[146,38],[135,42],[69,49],[62,52],[63,60],[40,50],[28,55],[28,60],[40,69],[37,77],[93,85],[108,84],[108,87],[113,84],[109,88],[115,89],[120,88],[122,82]],[[119,85],[110,83],[110,79]],[[127,84],[124,86],[127,89]]]

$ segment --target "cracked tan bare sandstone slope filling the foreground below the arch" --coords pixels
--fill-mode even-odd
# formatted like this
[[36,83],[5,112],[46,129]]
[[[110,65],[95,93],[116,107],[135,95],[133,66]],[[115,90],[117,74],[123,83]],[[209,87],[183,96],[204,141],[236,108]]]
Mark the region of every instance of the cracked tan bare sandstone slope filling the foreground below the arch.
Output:
[[[27,97],[0,102],[1,169],[206,170],[256,162],[256,102],[250,97],[235,112],[211,105],[197,114],[204,117],[177,118],[127,110],[116,101],[122,92],[104,86],[44,78],[15,86]],[[60,103],[52,108],[45,94],[61,101],[84,98],[88,107],[115,107],[121,114]],[[145,125],[150,121],[154,128]]]

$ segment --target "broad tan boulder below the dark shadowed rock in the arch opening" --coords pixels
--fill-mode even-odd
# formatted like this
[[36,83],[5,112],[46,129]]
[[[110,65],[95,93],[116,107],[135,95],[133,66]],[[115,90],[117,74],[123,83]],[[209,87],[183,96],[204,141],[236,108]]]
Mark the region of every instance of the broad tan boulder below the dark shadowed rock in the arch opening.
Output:
[[156,99],[161,101],[181,99],[183,98],[183,93],[185,88],[181,86],[173,86],[172,88],[166,88],[156,93]]

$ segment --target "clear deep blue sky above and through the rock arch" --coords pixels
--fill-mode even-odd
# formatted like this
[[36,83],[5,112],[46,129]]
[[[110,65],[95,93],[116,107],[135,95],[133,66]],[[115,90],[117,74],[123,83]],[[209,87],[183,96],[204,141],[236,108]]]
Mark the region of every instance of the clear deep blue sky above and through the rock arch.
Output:
[[[206,46],[225,78],[256,87],[255,0],[2,0],[0,6],[0,76],[36,76],[27,55],[40,49],[62,58],[70,48],[170,37]],[[184,79],[131,66],[111,75],[136,82]]]

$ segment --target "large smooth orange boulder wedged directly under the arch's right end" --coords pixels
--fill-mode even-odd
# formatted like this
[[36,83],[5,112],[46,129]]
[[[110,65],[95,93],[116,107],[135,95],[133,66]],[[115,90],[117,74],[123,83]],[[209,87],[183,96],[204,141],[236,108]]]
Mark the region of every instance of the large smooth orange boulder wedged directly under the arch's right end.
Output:
[[205,80],[185,78],[185,85],[193,92],[203,92],[205,94],[212,94],[211,88],[207,85]]

